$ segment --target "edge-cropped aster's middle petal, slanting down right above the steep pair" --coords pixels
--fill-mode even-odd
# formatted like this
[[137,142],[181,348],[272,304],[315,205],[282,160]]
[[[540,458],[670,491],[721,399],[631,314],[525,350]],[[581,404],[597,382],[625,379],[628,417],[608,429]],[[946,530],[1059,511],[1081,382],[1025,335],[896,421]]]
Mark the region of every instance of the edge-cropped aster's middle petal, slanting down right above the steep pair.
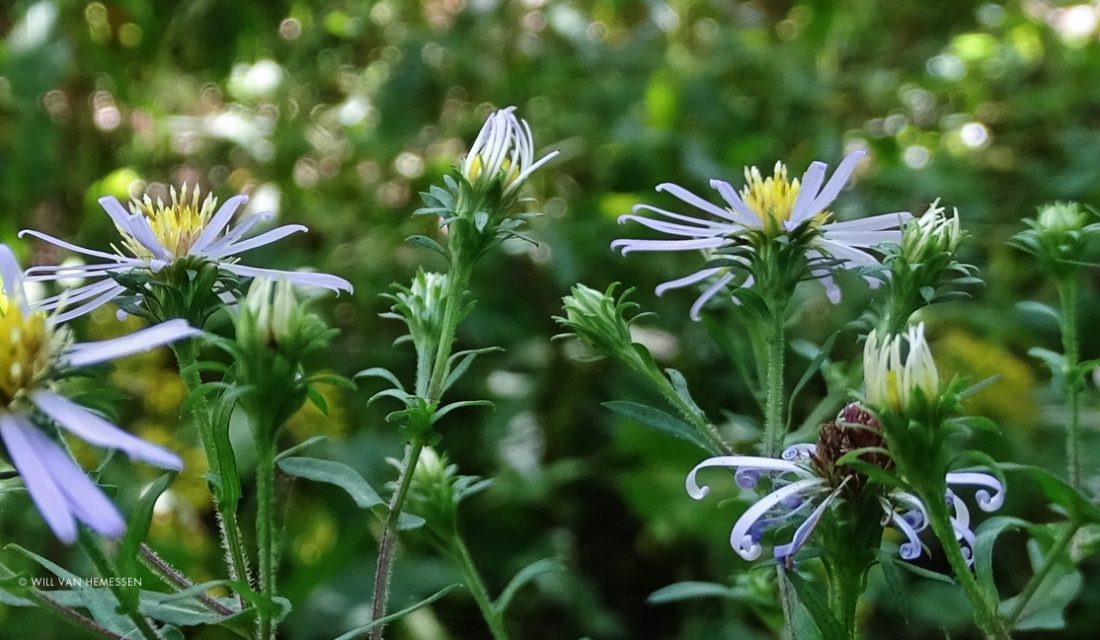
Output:
[[92,444],[117,449],[131,459],[162,468],[179,471],[184,467],[175,453],[127,433],[67,398],[44,389],[36,389],[30,396],[31,401],[53,421]]

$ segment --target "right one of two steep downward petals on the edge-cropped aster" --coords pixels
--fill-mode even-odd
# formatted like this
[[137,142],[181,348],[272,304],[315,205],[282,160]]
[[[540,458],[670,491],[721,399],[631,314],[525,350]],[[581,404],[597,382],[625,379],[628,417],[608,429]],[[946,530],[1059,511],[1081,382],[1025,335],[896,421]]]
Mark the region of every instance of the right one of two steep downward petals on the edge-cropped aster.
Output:
[[65,496],[68,508],[76,519],[97,533],[108,538],[121,538],[127,530],[122,515],[84,470],[42,431],[32,428],[26,432],[26,437],[45,465],[44,471]]

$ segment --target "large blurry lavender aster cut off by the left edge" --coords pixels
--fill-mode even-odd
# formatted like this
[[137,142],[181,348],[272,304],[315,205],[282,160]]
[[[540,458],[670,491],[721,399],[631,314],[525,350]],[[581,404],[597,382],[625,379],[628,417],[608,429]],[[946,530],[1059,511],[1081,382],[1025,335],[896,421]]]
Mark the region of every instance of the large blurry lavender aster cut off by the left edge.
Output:
[[63,541],[76,539],[77,522],[110,537],[122,536],[122,516],[66,452],[40,427],[50,422],[82,440],[122,451],[162,468],[178,471],[176,454],[150,444],[51,388],[73,368],[99,364],[198,333],[183,320],[124,338],[74,344],[56,318],[33,310],[11,250],[0,244],[0,440],[43,519]]

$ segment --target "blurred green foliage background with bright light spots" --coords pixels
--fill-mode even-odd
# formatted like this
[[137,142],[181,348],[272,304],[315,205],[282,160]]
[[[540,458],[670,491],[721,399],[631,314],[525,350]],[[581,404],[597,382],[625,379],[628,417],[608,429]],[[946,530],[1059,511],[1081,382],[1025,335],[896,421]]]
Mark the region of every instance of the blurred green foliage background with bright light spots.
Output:
[[[562,560],[564,571],[520,594],[509,615],[516,638],[767,638],[740,602],[647,604],[673,582],[756,574],[727,544],[736,510],[694,503],[683,490],[700,452],[600,406],[646,399],[637,380],[608,363],[582,364],[574,344],[550,341],[560,296],[578,280],[637,286],[634,298],[659,313],[639,338],[685,373],[727,433],[745,438],[757,410],[719,346],[737,342],[737,325],[716,310],[711,332],[724,340],[714,340],[689,321],[690,291],[651,293],[698,258],[615,255],[610,240],[642,233],[619,228],[616,217],[640,201],[674,206],[653,192],[663,181],[706,194],[712,177],[739,183],[747,164],[782,159],[801,174],[813,159],[835,165],[846,150],[866,146],[871,162],[837,213],[920,212],[935,198],[959,208],[974,233],[965,257],[989,284],[975,301],[927,315],[942,366],[976,379],[1002,375],[971,402],[1004,432],[979,446],[1059,468],[1057,398],[1025,355],[1034,345],[1055,347],[1056,327],[1014,308],[1049,301],[1053,290],[1004,241],[1045,201],[1100,203],[1098,19],[1098,3],[1043,0],[6,0],[0,240],[28,264],[55,263],[70,256],[16,241],[15,232],[32,227],[103,247],[114,232],[99,196],[163,192],[182,181],[221,198],[250,192],[253,207],[310,227],[255,252],[251,264],[315,267],[355,284],[353,297],[320,302],[342,330],[321,364],[345,375],[386,366],[408,379],[411,352],[392,347],[400,325],[378,318],[387,306],[378,294],[420,265],[443,266],[404,243],[435,233],[431,221],[410,217],[417,194],[458,161],[493,107],[517,106],[539,147],[561,156],[532,180],[546,213],[532,225],[539,245],[509,243],[481,264],[479,304],[460,331],[465,347],[507,347],[479,361],[454,390],[455,398],[490,398],[496,409],[457,413],[443,428],[443,446],[464,473],[496,478],[464,506],[472,552],[493,591],[527,563]],[[820,343],[859,315],[868,294],[845,284],[836,308],[820,287],[800,293],[795,338]],[[1100,311],[1094,284],[1085,296],[1086,328]],[[79,330],[101,336],[124,328],[105,309]],[[1084,356],[1094,357],[1094,332],[1086,329],[1084,339]],[[836,357],[857,349],[848,336]],[[790,357],[796,376],[805,360]],[[849,382],[843,366],[831,377],[839,406],[858,378]],[[153,545],[197,580],[218,577],[201,454],[177,418],[184,393],[170,358],[132,358],[112,379],[124,391],[123,423],[184,451],[189,463],[158,508]],[[827,396],[824,383],[815,385],[795,407],[796,421],[813,406],[810,396]],[[329,434],[331,444],[315,453],[382,487],[393,476],[385,459],[399,445],[383,421],[388,407],[365,404],[375,390],[370,383],[360,393],[332,390],[332,415],[304,412],[287,443]],[[1091,396],[1086,424],[1094,431]],[[89,465],[99,459],[78,453]],[[239,453],[246,466],[246,448]],[[138,490],[135,474],[152,477],[123,462],[109,471],[130,481],[120,483],[122,505]],[[1089,482],[1097,493],[1097,478]],[[366,619],[377,526],[338,489],[286,488],[282,591],[296,608],[284,635],[331,638]],[[1038,495],[1011,489],[1005,512],[1055,519]],[[91,574],[79,553],[48,536],[25,495],[6,494],[0,543],[13,541]],[[1007,592],[1019,589],[1024,540],[1007,536],[998,559]],[[943,569],[935,559],[924,565]],[[1089,585],[1098,569],[1096,560],[1081,565],[1086,588],[1066,610],[1067,630],[1020,637],[1096,638],[1100,591]],[[457,575],[407,539],[395,608]],[[862,611],[868,638],[975,637],[949,587],[905,580],[905,596],[872,580]],[[486,631],[457,594],[392,635],[457,640]],[[43,614],[0,606],[0,637],[75,636]]]

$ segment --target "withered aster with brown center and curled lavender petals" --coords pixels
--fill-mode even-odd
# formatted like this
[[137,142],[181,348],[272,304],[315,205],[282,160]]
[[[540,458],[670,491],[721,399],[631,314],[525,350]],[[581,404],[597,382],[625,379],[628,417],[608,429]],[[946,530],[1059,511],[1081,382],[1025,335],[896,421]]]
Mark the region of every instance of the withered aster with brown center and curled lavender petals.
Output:
[[[696,500],[710,494],[710,487],[700,485],[696,476],[704,468],[736,470],[734,481],[744,489],[756,488],[761,479],[769,493],[746,510],[730,532],[729,543],[745,560],[760,558],[765,533],[783,526],[798,523],[793,537],[773,549],[777,560],[793,558],[810,539],[831,506],[854,497],[864,490],[878,492],[882,526],[891,526],[905,538],[899,548],[903,560],[921,556],[923,545],[920,534],[928,528],[928,510],[913,493],[895,487],[868,485],[867,477],[846,465],[837,465],[844,454],[882,446],[881,427],[858,405],[849,405],[836,421],[822,427],[816,444],[795,444],[783,451],[781,459],[751,455],[722,455],[705,460],[688,474],[688,494]],[[865,453],[861,460],[882,468],[891,463],[884,453]],[[993,511],[1004,501],[1004,490],[997,478],[980,472],[955,472],[945,477],[948,485],[945,499],[952,511],[952,527],[964,544],[964,554],[972,559],[975,533],[970,528],[970,511],[966,503],[950,487],[977,486],[976,498],[983,511]],[[992,493],[990,493],[992,492]]]

